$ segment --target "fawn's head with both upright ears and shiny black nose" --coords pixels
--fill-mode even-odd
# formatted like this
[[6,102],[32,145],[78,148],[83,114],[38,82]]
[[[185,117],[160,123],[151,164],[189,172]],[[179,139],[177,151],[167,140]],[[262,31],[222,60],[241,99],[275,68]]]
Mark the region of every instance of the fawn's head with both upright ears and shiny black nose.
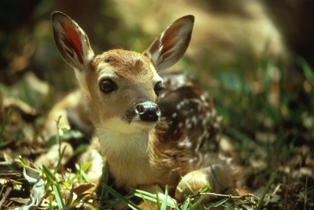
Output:
[[193,23],[192,15],[176,20],[143,54],[111,50],[95,56],[84,30],[64,13],[52,13],[57,49],[74,68],[96,128],[134,133],[155,127],[160,120],[158,96],[164,87],[157,72],[182,57],[191,39]]

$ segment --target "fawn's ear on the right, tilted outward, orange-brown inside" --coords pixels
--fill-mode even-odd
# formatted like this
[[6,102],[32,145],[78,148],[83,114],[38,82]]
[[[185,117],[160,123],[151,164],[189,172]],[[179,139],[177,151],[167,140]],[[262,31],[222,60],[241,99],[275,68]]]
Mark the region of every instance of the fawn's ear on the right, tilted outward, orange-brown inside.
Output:
[[187,15],[169,25],[144,51],[157,71],[171,67],[180,60],[189,46],[194,16]]

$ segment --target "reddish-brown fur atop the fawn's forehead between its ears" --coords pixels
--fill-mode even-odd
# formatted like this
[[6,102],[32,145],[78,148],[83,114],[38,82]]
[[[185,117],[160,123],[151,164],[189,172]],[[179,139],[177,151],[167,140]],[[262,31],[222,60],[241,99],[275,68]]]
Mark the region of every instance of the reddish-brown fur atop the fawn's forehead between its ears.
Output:
[[122,78],[140,76],[153,77],[151,61],[141,53],[126,50],[111,50],[95,57],[91,65],[97,69],[101,63],[114,67],[115,73]]

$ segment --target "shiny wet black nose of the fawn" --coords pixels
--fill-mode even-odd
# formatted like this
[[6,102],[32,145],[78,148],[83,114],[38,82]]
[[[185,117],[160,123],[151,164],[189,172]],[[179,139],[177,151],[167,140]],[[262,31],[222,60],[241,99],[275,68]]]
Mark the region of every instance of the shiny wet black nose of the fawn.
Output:
[[160,117],[160,110],[158,105],[151,102],[145,101],[136,105],[136,110],[141,120],[143,121],[157,121]]

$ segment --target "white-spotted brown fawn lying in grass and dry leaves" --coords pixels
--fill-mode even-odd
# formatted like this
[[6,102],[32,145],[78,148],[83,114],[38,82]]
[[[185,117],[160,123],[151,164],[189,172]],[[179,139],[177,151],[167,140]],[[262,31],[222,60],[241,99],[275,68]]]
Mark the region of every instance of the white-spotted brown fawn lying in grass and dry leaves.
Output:
[[219,192],[235,186],[233,166],[218,155],[219,118],[213,103],[184,73],[160,72],[185,53],[194,16],[169,25],[143,54],[110,50],[95,55],[86,33],[61,12],[52,13],[55,43],[74,68],[89,118],[116,186],[159,185],[182,200],[189,183]]

